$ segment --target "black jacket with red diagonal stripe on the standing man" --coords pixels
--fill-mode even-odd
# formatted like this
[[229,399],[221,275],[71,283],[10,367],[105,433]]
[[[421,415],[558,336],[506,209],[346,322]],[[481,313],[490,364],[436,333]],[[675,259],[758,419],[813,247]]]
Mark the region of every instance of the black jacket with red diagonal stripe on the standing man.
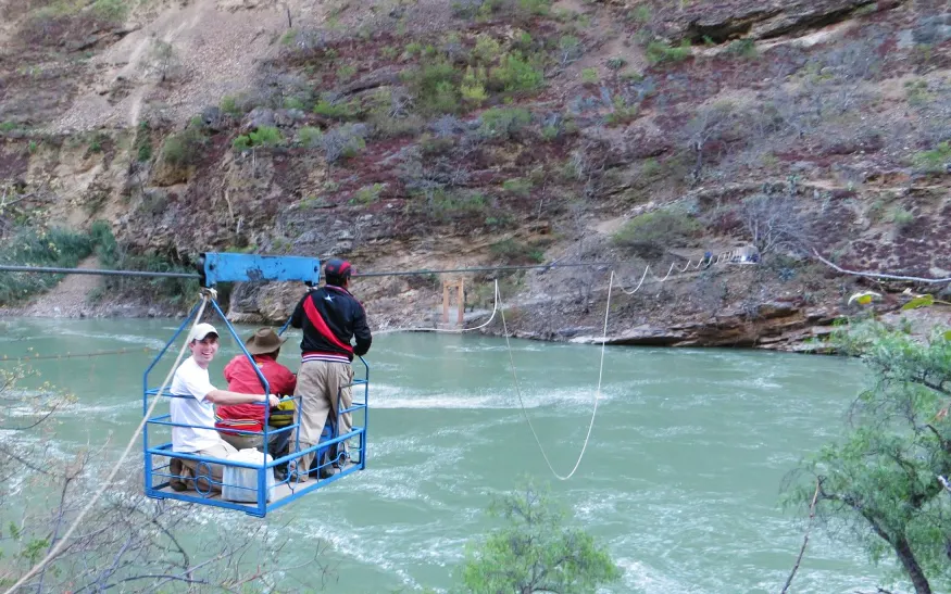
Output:
[[[350,291],[333,285],[309,291],[297,304],[290,325],[303,330],[303,361],[353,361],[353,355],[366,354],[373,341],[363,305]],[[356,345],[351,346],[354,337]]]

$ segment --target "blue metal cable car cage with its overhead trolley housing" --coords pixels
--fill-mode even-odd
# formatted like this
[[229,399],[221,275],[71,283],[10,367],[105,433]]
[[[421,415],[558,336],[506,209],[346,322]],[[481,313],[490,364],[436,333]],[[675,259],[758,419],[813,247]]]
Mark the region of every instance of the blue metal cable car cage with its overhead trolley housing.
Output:
[[[273,281],[302,281],[308,286],[315,286],[320,281],[321,262],[312,257],[299,256],[262,256],[249,254],[227,254],[227,253],[207,253],[202,256],[202,286],[213,288],[217,282],[233,281],[251,281],[251,280],[273,280]],[[236,343],[240,345],[253,365],[253,357],[245,349],[243,341],[238,337],[235,328],[227,320],[222,312],[221,306],[214,299],[209,300],[209,305],[214,309]],[[179,337],[187,338],[187,329],[190,328],[195,316],[198,314],[199,306],[196,305],[191,313],[183,321],[168,340],[165,346],[159,352],[158,356],[149,365],[142,377],[142,415],[148,415],[149,399],[155,397],[160,388],[153,388],[149,384],[149,376],[155,365],[167,353],[168,349]],[[288,321],[289,324],[289,321]],[[285,324],[280,329],[283,333],[288,324]],[[339,480],[342,477],[352,475],[359,470],[366,468],[366,427],[368,421],[367,400],[370,396],[370,366],[360,357],[363,364],[363,377],[354,377],[351,384],[353,395],[352,405],[349,408],[340,409],[340,394],[338,397],[337,410],[339,414],[350,413],[352,417],[352,429],[349,433],[337,434],[336,427],[340,424],[337,419],[328,419],[328,426],[324,430],[321,442],[316,445],[301,450],[298,441],[297,428],[298,419],[295,419],[290,425],[280,428],[274,428],[268,425],[270,407],[264,403],[264,427],[261,431],[243,431],[229,429],[229,431],[249,434],[261,435],[263,443],[267,444],[271,438],[276,433],[289,433],[290,447],[289,453],[276,459],[268,459],[266,446],[265,452],[261,453],[260,462],[251,459],[222,459],[203,457],[193,454],[173,452],[172,442],[151,443],[151,437],[155,432],[168,434],[171,427],[196,427],[172,422],[171,414],[157,414],[147,419],[142,431],[142,453],[145,455],[145,491],[146,495],[153,498],[170,498],[191,502],[200,505],[211,505],[215,507],[224,507],[227,509],[238,509],[252,516],[264,517],[268,511],[287,505],[288,503],[306,495],[308,493],[321,489],[333,481]],[[253,366],[258,369],[256,365]],[[359,375],[359,374],[356,374]],[[271,393],[267,380],[258,369],[258,378],[264,388],[265,393]],[[166,388],[167,392],[167,388]],[[191,396],[175,396],[163,393],[163,397],[191,397]],[[295,395],[285,399],[285,401],[293,400],[296,405],[300,407],[301,396]],[[333,416],[333,414],[331,414]],[[201,427],[202,429],[215,429],[214,427]],[[170,438],[171,439],[171,438]],[[160,440],[162,441],[162,440]],[[342,443],[349,442],[350,448],[343,452]],[[354,442],[358,447],[353,448]],[[338,445],[341,447],[338,448]],[[292,472],[288,472],[286,478],[281,480],[274,479],[275,467],[286,467],[289,463],[295,463],[305,454],[314,453],[314,462],[309,469],[310,479],[300,481],[300,477]],[[172,460],[188,459],[197,463],[197,477],[184,477],[173,473]],[[216,464],[224,467],[223,479],[221,482],[214,481],[211,478],[210,464]],[[176,465],[177,466],[177,465]],[[330,467],[334,467],[336,473],[326,472]],[[326,478],[321,478],[326,476]],[[175,491],[172,489],[172,479],[188,479],[189,490]],[[196,480],[198,479],[198,480]],[[218,489],[211,489],[214,483]],[[228,497],[228,498],[225,498]]]

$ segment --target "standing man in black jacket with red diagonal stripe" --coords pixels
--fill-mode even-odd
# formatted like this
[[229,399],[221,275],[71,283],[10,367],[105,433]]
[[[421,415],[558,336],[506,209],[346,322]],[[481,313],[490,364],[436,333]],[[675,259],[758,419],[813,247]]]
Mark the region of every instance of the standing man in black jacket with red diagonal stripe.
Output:
[[[299,443],[301,448],[316,445],[327,421],[334,412],[337,419],[337,434],[350,432],[350,413],[340,415],[340,405],[350,408],[353,403],[350,384],[353,383],[353,368],[350,362],[354,355],[370,351],[373,337],[366,325],[366,313],[356,298],[350,294],[350,263],[334,258],[324,265],[326,285],[309,291],[301,299],[290,318],[290,325],[303,330],[301,339],[301,366],[297,374],[297,392],[301,395],[299,410]],[[356,344],[351,345],[352,339]],[[313,453],[301,457],[298,466],[299,480],[306,480],[306,469],[313,460]],[[326,475],[328,469],[323,469]]]

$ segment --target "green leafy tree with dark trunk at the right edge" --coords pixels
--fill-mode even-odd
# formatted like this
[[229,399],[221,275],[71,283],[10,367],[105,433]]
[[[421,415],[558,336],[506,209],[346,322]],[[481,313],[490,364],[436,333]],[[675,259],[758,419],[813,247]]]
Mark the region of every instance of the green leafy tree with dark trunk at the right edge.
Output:
[[[851,430],[802,470],[792,491],[816,517],[844,527],[873,563],[892,558],[917,594],[951,586],[951,332],[916,341],[867,323],[840,337],[861,356],[872,388],[852,407]],[[801,475],[799,475],[801,477]]]

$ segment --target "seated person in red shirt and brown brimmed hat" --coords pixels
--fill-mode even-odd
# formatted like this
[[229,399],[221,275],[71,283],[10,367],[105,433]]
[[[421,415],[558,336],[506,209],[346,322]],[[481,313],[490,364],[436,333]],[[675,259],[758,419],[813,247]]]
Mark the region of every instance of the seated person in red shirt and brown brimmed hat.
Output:
[[[277,363],[280,345],[287,339],[279,338],[271,328],[261,328],[251,338],[245,341],[245,349],[254,357],[254,365],[261,370],[261,375],[267,380],[271,393],[284,396],[293,395],[297,387],[297,377],[284,365]],[[263,394],[264,386],[254,371],[254,367],[248,357],[241,353],[233,358],[225,367],[225,379],[228,390],[247,394]],[[256,447],[263,450],[264,435],[248,433],[235,433],[228,429],[242,431],[264,430],[264,407],[256,404],[228,404],[218,406],[215,412],[215,427],[222,439],[238,450]],[[267,451],[278,458],[286,455],[290,431],[270,433]]]

